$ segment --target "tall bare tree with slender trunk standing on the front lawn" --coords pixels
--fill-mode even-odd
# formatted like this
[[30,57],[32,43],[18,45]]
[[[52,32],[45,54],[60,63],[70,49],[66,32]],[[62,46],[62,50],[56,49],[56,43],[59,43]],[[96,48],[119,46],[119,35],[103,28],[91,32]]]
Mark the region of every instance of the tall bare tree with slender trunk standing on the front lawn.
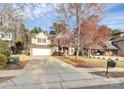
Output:
[[78,59],[78,52],[80,46],[80,30],[81,22],[85,20],[92,20],[99,22],[101,20],[101,14],[103,13],[103,4],[95,3],[68,3],[60,4],[56,9],[59,13],[59,19],[64,20],[68,24],[74,24],[74,29],[76,29],[76,59]]

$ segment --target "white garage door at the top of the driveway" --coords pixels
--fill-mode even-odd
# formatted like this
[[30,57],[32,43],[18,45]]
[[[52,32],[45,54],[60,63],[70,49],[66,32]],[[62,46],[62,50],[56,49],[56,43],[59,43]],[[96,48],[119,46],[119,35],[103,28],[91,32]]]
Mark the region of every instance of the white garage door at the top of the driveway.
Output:
[[32,55],[33,56],[51,55],[51,49],[32,48]]

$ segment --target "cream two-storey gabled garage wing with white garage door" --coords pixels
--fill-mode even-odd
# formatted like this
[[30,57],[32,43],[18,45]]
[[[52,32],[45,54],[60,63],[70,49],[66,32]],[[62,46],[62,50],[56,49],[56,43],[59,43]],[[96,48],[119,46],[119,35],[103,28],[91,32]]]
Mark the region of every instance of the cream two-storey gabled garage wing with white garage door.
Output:
[[52,55],[51,39],[48,33],[42,31],[31,39],[30,54],[33,56]]

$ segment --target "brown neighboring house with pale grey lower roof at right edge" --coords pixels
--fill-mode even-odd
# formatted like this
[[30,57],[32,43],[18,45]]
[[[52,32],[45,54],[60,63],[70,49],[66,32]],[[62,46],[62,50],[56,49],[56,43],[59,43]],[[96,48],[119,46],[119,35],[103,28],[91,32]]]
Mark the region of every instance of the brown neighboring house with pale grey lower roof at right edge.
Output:
[[[96,50],[100,50],[101,46],[95,46]],[[104,55],[124,56],[124,32],[113,34],[109,42],[106,43],[106,51]]]

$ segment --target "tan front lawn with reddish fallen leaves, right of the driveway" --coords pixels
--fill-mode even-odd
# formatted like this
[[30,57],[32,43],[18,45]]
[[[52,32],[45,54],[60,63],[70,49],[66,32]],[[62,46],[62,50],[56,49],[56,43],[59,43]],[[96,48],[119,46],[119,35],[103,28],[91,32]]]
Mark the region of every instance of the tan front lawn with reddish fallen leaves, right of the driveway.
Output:
[[[79,57],[80,62],[73,61],[75,60],[75,56],[55,56],[56,58],[63,60],[69,64],[72,64],[76,67],[90,67],[90,68],[105,68],[107,64],[107,60],[105,59],[97,59],[97,58],[88,58],[88,57]],[[123,61],[116,61],[116,67],[124,67]]]

